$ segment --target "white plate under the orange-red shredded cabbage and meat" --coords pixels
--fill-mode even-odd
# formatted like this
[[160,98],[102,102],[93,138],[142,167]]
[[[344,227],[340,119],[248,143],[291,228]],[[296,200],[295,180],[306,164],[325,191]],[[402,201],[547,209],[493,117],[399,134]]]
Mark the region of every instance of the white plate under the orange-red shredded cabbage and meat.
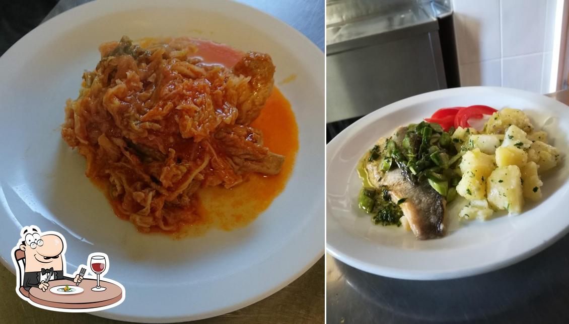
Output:
[[[275,82],[292,104],[300,147],[285,190],[245,228],[174,241],[137,233],[114,216],[85,177],[85,159],[65,145],[60,124],[98,45],[144,36],[192,36],[270,53]],[[109,255],[108,277],[125,301],[102,317],[151,322],[212,317],[277,292],[324,253],[324,54],[279,20],[225,1],[104,1],[64,12],[0,58],[0,256],[20,226],[56,230],[68,243],[68,271],[89,253]]]

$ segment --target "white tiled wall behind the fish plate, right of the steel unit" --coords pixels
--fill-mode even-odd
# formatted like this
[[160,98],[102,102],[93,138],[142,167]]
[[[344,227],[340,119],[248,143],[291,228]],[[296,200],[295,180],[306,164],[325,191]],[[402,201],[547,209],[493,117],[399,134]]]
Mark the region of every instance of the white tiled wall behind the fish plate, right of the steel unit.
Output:
[[549,92],[557,1],[453,0],[461,85]]

